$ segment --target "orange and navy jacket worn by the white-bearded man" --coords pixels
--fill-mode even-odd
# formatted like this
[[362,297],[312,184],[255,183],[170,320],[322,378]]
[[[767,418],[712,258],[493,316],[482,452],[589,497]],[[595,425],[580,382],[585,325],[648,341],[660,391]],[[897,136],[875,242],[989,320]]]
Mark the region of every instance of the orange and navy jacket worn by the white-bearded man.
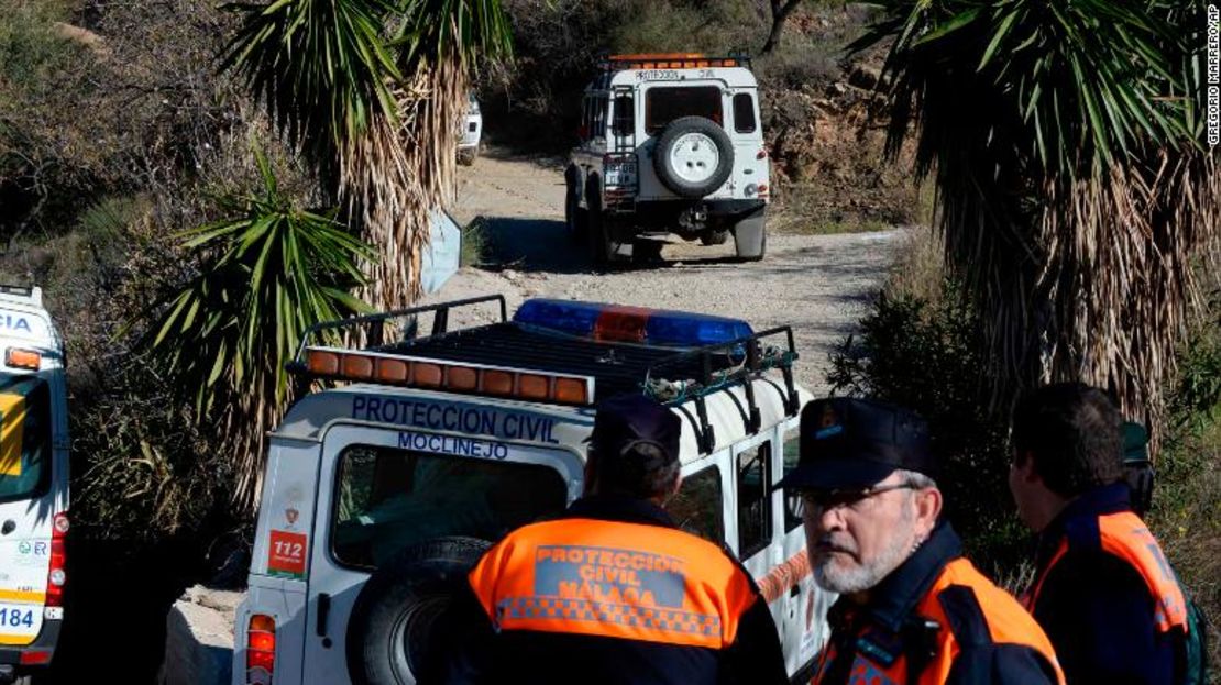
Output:
[[962,557],[947,523],[869,590],[841,597],[816,685],[1063,684],[1046,635]]

